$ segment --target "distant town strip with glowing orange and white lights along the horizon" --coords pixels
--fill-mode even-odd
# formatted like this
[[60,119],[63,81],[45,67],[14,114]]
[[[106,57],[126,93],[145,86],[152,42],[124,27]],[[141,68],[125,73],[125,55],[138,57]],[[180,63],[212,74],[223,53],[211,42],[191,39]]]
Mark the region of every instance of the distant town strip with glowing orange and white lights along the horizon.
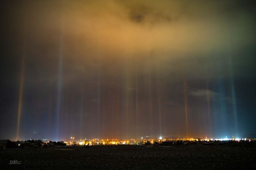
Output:
[[5,148],[46,148],[63,146],[92,146],[92,145],[251,145],[255,144],[256,139],[251,138],[223,138],[223,139],[204,139],[198,138],[143,138],[140,139],[75,139],[70,137],[65,141],[51,141],[49,139],[29,139],[25,141],[10,141],[9,139],[0,140],[0,149]]

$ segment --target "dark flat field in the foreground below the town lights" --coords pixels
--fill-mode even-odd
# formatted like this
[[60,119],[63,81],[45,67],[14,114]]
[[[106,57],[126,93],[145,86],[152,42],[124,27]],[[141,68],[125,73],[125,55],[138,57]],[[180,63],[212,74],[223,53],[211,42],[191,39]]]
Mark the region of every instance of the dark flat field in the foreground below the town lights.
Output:
[[[21,164],[9,164],[11,160]],[[255,147],[89,146],[0,150],[0,170],[255,169]]]

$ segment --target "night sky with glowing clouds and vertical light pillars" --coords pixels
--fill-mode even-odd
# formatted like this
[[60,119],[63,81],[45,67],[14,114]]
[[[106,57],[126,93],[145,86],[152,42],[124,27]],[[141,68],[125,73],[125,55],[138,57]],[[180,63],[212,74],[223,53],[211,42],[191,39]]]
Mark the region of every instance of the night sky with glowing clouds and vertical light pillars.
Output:
[[254,0],[0,2],[0,139],[256,137]]

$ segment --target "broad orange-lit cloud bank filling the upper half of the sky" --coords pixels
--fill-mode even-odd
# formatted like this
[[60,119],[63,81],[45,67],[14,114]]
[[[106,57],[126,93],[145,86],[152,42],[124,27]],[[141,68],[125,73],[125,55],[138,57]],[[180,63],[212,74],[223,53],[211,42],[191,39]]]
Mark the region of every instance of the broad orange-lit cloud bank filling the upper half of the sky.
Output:
[[[58,70],[60,53],[66,83],[77,82],[79,77],[93,79],[99,63],[113,76],[124,72],[121,64],[125,63],[131,76],[133,71],[141,76],[155,70],[168,77],[184,72],[188,79],[195,79],[207,72],[211,81],[220,74],[229,76],[225,57],[233,57],[256,40],[256,15],[252,8],[242,7],[229,0],[33,1],[9,10],[22,15],[17,14],[18,21],[15,17],[8,23],[12,21],[11,28],[26,25],[27,61],[40,61],[31,62],[38,70],[43,69],[38,68],[43,62],[49,64],[49,69],[38,73],[44,82],[55,83],[57,73],[52,73]],[[21,35],[17,30],[10,33],[15,35],[14,42]],[[241,72],[248,60],[240,53],[236,62],[242,60]],[[106,66],[111,63],[117,64]],[[34,74],[29,71],[26,77],[34,78]]]

